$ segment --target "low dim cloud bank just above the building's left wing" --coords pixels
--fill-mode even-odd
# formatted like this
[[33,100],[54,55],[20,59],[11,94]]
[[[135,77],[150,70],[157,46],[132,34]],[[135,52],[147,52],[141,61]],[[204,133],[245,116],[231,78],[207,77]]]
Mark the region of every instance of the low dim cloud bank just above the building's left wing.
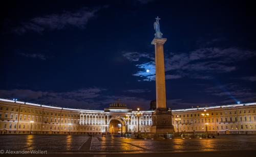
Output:
[[99,101],[94,101],[106,89],[87,88],[70,92],[33,91],[28,89],[0,90],[1,98],[18,98],[21,101],[42,103],[69,108],[97,109],[101,108]]

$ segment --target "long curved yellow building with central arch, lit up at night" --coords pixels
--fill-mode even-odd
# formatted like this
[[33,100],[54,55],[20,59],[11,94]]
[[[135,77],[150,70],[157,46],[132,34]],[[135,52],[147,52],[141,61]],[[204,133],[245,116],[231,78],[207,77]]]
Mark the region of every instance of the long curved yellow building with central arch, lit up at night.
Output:
[[[175,132],[179,126],[179,132],[186,133],[256,134],[255,110],[256,103],[173,110],[172,122]],[[0,134],[136,133],[137,112],[121,103],[101,111],[0,99]],[[150,133],[153,111],[140,113],[140,132]]]

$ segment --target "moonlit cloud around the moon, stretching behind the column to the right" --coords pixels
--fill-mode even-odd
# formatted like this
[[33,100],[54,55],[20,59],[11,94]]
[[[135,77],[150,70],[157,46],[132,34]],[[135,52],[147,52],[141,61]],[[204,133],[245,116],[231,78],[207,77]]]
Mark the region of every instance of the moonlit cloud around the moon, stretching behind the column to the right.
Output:
[[[199,48],[189,53],[166,53],[165,72],[166,80],[188,77],[191,79],[212,79],[215,73],[227,73],[239,69],[237,62],[255,57],[255,51],[239,48]],[[133,74],[139,76],[139,81],[155,80],[154,58],[140,53],[131,53],[125,56],[136,64],[138,71]],[[147,61],[141,61],[146,58]],[[150,69],[150,73],[146,72]],[[172,72],[172,75],[168,74]],[[249,78],[247,78],[249,79]],[[250,78],[253,81],[253,77]]]

